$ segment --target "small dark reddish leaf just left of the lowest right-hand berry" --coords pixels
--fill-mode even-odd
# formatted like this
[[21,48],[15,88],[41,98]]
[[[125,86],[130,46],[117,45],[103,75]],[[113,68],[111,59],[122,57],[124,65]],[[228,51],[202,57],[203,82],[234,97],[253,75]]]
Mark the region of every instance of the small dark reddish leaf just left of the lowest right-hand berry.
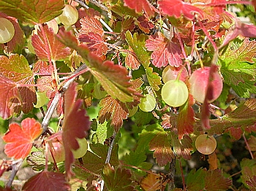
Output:
[[185,135],[183,136],[183,139],[179,140],[176,135],[171,133],[171,140],[173,141],[173,152],[176,153],[176,155],[183,157],[184,160],[190,160],[190,152],[193,150],[192,139]]

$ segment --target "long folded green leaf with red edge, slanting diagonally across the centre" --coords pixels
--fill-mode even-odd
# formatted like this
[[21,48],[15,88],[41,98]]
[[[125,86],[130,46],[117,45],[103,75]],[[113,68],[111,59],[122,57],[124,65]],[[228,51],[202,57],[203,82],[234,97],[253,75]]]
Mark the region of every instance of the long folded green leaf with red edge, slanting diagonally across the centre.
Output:
[[128,71],[123,66],[115,65],[112,61],[102,62],[97,55],[89,53],[88,47],[85,44],[78,44],[75,36],[71,33],[59,31],[59,40],[65,45],[78,51],[78,54],[88,61],[91,74],[97,78],[104,90],[113,98],[118,98],[119,101],[132,101],[132,93],[135,90],[130,88],[130,77]]

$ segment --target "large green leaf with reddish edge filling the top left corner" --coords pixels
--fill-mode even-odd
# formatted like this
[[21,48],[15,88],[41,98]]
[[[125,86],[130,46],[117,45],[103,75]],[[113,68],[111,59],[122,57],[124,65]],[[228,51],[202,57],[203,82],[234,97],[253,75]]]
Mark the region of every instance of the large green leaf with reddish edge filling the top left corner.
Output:
[[45,23],[61,15],[63,1],[55,0],[1,0],[0,12],[29,23]]

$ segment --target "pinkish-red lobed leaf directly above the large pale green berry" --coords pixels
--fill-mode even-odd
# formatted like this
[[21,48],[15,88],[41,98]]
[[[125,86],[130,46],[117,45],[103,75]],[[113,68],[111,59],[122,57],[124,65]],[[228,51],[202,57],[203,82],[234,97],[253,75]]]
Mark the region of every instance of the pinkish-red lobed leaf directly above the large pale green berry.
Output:
[[181,48],[174,42],[170,42],[162,33],[149,36],[146,40],[146,48],[149,51],[154,51],[151,54],[152,63],[154,66],[161,68],[162,66],[181,66],[184,55]]

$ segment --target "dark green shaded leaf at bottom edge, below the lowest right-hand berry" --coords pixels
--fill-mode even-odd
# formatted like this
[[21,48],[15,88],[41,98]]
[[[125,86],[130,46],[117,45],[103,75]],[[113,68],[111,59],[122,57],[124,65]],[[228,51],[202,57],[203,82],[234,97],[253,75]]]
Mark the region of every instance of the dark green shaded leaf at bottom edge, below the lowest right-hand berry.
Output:
[[206,176],[206,169],[199,168],[197,171],[192,169],[189,172],[186,180],[187,190],[203,190],[205,187],[204,178]]

